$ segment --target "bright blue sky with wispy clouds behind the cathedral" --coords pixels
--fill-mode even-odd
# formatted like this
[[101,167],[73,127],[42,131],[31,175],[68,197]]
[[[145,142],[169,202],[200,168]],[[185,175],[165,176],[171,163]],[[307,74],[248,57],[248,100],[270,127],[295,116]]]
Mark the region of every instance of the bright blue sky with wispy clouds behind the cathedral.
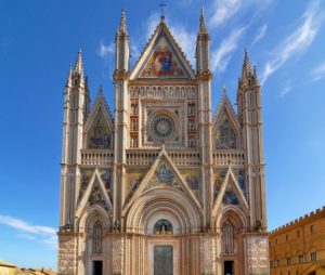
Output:
[[[195,65],[199,10],[211,37],[212,106],[235,103],[244,49],[263,92],[269,228],[325,205],[325,2],[167,0],[176,39]],[[114,38],[126,9],[131,63],[159,21],[159,1],[30,0],[0,10],[0,259],[56,267],[63,92],[81,47],[92,99],[113,107]]]

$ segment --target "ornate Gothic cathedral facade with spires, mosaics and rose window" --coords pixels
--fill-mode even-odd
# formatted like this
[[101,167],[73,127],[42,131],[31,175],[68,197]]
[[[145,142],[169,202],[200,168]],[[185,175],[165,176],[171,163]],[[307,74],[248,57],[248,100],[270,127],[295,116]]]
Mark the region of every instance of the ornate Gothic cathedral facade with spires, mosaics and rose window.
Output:
[[[177,34],[174,34],[177,35]],[[65,88],[58,272],[269,274],[261,91],[245,53],[237,112],[212,115],[204,13],[193,69],[165,17],[134,68],[125,12],[114,116],[81,52]]]

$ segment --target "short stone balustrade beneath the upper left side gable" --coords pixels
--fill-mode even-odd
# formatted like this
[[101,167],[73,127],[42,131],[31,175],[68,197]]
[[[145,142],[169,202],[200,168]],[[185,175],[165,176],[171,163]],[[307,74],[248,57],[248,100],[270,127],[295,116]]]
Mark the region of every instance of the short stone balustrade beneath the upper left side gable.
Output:
[[113,165],[114,155],[112,149],[82,149],[81,165]]

